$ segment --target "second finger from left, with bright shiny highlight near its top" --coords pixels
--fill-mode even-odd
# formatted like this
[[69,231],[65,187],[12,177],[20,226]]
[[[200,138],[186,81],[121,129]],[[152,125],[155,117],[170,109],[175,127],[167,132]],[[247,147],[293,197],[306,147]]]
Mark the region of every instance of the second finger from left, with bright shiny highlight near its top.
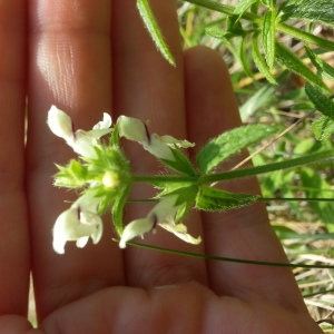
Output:
[[111,110],[110,1],[30,1],[29,205],[39,317],[82,295],[122,283],[120,252],[105,224],[102,240],[84,249],[52,249],[57,216],[76,194],[51,186],[55,163],[76,157],[46,125],[51,105],[70,114],[76,129],[91,129]]

